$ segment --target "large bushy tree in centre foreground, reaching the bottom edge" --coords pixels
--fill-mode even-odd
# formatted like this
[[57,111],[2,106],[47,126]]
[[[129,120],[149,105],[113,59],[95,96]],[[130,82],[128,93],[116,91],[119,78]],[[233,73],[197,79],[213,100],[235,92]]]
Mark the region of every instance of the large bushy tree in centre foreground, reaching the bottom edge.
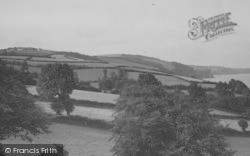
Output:
[[160,156],[175,140],[162,89],[133,85],[122,91],[115,108],[112,148],[119,156]]

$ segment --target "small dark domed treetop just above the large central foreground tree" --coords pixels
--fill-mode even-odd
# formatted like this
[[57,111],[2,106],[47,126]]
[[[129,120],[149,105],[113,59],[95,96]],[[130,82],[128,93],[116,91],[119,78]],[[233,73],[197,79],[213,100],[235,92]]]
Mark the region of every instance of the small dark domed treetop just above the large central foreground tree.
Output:
[[162,85],[151,73],[142,73],[139,75],[138,83],[140,85]]

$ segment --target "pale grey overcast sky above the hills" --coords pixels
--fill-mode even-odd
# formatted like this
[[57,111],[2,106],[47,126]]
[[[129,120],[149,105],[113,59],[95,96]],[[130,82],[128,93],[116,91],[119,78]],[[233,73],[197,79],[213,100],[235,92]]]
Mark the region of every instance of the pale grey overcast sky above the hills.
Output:
[[[249,6],[249,0],[0,0],[0,48],[250,67]],[[188,38],[191,18],[227,12],[236,33],[209,42]]]

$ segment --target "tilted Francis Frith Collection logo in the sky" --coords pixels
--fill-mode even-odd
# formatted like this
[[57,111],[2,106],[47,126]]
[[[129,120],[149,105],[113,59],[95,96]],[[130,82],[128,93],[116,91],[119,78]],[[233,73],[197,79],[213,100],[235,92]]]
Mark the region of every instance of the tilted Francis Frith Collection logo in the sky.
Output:
[[230,12],[208,19],[202,17],[190,19],[188,25],[191,30],[188,32],[188,37],[191,40],[196,40],[201,37],[205,37],[206,40],[211,40],[218,36],[235,32],[237,23],[232,22],[229,15],[231,15]]

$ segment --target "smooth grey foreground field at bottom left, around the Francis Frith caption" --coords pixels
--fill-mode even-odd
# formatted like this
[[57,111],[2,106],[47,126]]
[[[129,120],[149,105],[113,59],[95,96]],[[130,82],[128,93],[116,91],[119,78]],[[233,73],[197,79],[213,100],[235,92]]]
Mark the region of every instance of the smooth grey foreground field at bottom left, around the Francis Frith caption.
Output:
[[[63,144],[69,156],[111,156],[111,132],[66,124],[52,124],[51,133],[33,138],[32,144]],[[3,140],[4,144],[27,144],[21,139]]]

